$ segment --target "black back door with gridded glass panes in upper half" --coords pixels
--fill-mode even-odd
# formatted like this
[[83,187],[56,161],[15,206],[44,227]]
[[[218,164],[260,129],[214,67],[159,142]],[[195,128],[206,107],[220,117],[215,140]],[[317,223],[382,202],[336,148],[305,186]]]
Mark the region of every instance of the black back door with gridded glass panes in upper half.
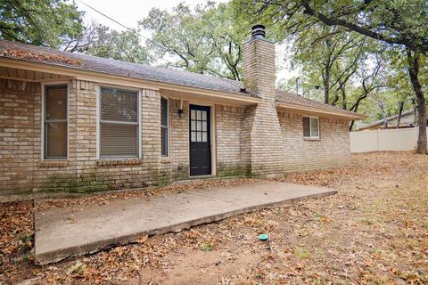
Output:
[[189,141],[190,175],[210,175],[210,107],[190,105]]

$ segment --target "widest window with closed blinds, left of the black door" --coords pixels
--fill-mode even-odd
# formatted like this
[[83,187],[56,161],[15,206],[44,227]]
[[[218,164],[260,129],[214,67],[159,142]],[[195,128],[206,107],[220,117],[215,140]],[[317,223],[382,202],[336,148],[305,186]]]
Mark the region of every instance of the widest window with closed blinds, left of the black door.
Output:
[[100,158],[137,158],[138,92],[101,87],[99,108]]

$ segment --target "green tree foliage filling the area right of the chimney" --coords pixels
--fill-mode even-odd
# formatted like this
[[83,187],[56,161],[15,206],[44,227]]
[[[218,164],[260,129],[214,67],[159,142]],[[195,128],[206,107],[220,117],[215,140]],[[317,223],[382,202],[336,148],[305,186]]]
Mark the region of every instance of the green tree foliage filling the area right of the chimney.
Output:
[[[426,90],[428,3],[424,0],[234,0],[234,4],[254,21],[269,22],[277,38],[292,43],[292,63],[302,73],[300,86],[309,90],[324,86],[325,102],[379,118],[378,102],[391,114],[398,112],[399,102],[408,110],[415,97],[424,97],[421,88],[416,94],[409,80],[412,67],[406,53],[417,55],[416,81]],[[281,87],[295,91],[294,79]],[[321,99],[319,93],[308,94]]]

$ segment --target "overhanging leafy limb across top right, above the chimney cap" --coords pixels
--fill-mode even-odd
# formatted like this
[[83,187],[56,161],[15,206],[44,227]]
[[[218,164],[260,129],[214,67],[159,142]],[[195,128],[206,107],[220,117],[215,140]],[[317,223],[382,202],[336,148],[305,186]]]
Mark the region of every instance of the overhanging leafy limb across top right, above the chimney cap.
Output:
[[428,2],[425,0],[235,2],[245,13],[276,23],[283,32],[294,34],[322,23],[325,26],[342,27],[389,45],[428,52]]

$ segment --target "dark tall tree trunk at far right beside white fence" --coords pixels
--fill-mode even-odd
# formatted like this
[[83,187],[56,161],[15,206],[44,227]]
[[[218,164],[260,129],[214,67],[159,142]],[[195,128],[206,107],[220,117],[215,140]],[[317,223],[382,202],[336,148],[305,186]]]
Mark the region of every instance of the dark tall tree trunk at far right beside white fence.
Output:
[[422,91],[421,83],[419,82],[419,58],[417,52],[412,52],[407,48],[407,69],[410,81],[416,94],[417,100],[417,125],[419,126],[419,135],[417,137],[416,153],[428,154],[426,140],[426,102]]

